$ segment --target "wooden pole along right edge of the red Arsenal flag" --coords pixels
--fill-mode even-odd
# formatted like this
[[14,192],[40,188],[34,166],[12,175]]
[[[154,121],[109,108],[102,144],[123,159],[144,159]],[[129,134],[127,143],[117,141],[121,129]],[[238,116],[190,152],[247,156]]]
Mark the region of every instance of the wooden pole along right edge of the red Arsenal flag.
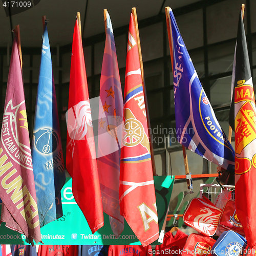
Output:
[[132,8],[132,14],[133,14],[133,22],[136,30],[136,35],[137,35],[138,52],[139,52],[139,58],[140,58],[140,70],[141,70],[142,87],[143,87],[144,100],[145,100],[148,140],[150,141],[152,169],[153,169],[153,175],[156,176],[157,173],[156,173],[156,164],[155,164],[155,157],[154,157],[154,148],[152,144],[153,142],[152,142],[151,125],[150,125],[150,114],[148,113],[148,104],[147,104],[146,89],[145,89],[145,83],[144,83],[144,69],[143,69],[142,54],[141,54],[141,47],[140,47],[140,36],[139,36],[137,12],[135,7]]

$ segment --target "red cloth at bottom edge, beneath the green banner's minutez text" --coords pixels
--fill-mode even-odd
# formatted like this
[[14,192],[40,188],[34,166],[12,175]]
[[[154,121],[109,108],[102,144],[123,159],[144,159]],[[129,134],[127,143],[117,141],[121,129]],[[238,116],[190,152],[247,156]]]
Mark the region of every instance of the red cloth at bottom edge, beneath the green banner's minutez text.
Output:
[[77,245],[39,245],[38,256],[73,256]]

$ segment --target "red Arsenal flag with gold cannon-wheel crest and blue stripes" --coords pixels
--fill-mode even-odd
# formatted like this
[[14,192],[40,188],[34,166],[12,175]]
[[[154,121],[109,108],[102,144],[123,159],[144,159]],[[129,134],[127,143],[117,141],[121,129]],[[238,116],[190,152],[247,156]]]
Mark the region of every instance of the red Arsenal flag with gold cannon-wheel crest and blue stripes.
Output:
[[121,215],[143,246],[159,237],[156,195],[135,17],[131,14],[126,55],[119,201]]

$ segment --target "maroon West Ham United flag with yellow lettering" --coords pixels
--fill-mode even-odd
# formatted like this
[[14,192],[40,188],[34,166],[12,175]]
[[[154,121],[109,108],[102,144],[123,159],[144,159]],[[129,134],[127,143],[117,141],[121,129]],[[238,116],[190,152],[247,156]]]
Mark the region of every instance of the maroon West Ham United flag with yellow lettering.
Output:
[[22,71],[16,37],[7,82],[0,142],[1,222],[6,227],[41,241],[35,182],[29,142]]

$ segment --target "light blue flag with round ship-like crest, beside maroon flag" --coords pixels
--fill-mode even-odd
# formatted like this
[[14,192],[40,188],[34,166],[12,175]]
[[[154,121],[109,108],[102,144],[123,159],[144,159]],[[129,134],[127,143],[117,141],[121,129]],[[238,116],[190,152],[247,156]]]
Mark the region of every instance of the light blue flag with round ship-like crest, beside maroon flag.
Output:
[[32,160],[42,227],[63,215],[60,190],[66,181],[47,26],[42,36]]

